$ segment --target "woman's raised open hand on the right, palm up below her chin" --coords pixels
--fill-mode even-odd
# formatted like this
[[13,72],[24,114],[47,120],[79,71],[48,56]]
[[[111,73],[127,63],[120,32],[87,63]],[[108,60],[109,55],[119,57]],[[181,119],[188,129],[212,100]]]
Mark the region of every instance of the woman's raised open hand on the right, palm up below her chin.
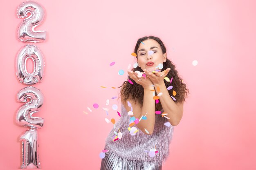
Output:
[[153,84],[161,84],[163,82],[164,77],[166,77],[170,70],[171,68],[167,68],[165,71],[155,71],[155,73],[149,72],[146,69],[144,69],[143,71],[146,73],[148,78],[153,82]]

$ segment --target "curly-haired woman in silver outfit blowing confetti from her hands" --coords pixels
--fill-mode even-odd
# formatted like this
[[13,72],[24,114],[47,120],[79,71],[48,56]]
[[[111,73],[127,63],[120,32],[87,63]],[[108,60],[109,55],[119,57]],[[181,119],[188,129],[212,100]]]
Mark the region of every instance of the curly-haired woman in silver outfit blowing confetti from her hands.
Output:
[[106,139],[109,151],[101,170],[162,170],[173,126],[182,119],[189,90],[163,42],[154,36],[139,38],[134,53],[138,67],[128,71],[128,81],[120,86],[121,118]]

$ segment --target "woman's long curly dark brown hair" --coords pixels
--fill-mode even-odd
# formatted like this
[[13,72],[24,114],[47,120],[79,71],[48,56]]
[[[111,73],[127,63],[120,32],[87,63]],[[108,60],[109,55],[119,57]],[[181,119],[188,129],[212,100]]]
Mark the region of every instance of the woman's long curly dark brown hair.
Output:
[[[138,55],[137,50],[139,49],[140,43],[142,41],[148,40],[148,39],[156,40],[159,43],[159,45],[161,46],[162,52],[166,53],[166,48],[165,48],[162,40],[160,40],[159,38],[157,38],[155,36],[148,36],[148,37],[145,36],[145,37],[139,38],[137,40],[137,44],[135,45],[135,49],[134,49],[134,53],[136,53],[136,55]],[[138,57],[136,57],[136,58],[138,59]],[[179,74],[178,74],[177,70],[175,69],[175,65],[173,64],[173,62],[171,62],[171,60],[168,60],[168,58],[166,59],[166,62],[163,63],[163,65],[164,65],[164,67],[162,68],[162,70],[171,68],[171,70],[166,75],[166,77],[168,77],[170,80],[171,80],[171,78],[173,78],[171,84],[170,84],[170,82],[167,82],[164,80],[166,88],[171,85],[173,86],[173,88],[171,90],[168,90],[169,95],[173,96],[173,90],[174,90],[177,93],[175,96],[173,96],[176,99],[176,101],[174,100],[174,102],[177,103],[177,102],[185,101],[185,98],[187,97],[187,95],[189,93],[189,89],[186,88],[186,84],[184,84],[182,79],[179,77]],[[143,72],[140,67],[132,68],[132,71],[133,72],[135,72],[135,71]],[[128,82],[128,79],[130,79],[130,81],[132,81],[133,84],[130,84]],[[128,79],[126,81],[124,81],[124,83],[121,86],[119,86],[119,88],[120,87],[122,87],[122,88],[121,88],[118,98],[121,97],[122,99],[124,99],[124,101],[126,101],[127,99],[132,99],[135,101],[135,103],[139,102],[139,104],[141,104],[141,106],[142,106],[143,98],[144,98],[144,88],[140,84],[137,84],[129,76],[128,76]],[[160,101],[158,104],[155,104],[155,106],[156,106],[156,108],[162,108]]]

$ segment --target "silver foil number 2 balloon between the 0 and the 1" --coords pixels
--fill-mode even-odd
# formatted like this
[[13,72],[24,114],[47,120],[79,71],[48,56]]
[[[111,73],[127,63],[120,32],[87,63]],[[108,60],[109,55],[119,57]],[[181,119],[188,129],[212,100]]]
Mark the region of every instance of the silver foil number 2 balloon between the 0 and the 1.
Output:
[[[35,87],[29,86],[21,89],[17,94],[17,99],[20,102],[26,102],[20,106],[17,111],[16,121],[20,126],[38,129],[43,126],[44,119],[33,117],[43,105],[43,93]],[[28,101],[30,99],[30,101]]]

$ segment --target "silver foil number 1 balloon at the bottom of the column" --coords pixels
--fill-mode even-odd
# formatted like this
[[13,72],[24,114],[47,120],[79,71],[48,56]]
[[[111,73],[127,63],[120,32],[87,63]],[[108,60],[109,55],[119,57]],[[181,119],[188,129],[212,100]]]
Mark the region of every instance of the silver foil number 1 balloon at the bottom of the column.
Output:
[[20,141],[22,141],[22,166],[20,168],[40,168],[37,130],[27,130],[20,136]]

